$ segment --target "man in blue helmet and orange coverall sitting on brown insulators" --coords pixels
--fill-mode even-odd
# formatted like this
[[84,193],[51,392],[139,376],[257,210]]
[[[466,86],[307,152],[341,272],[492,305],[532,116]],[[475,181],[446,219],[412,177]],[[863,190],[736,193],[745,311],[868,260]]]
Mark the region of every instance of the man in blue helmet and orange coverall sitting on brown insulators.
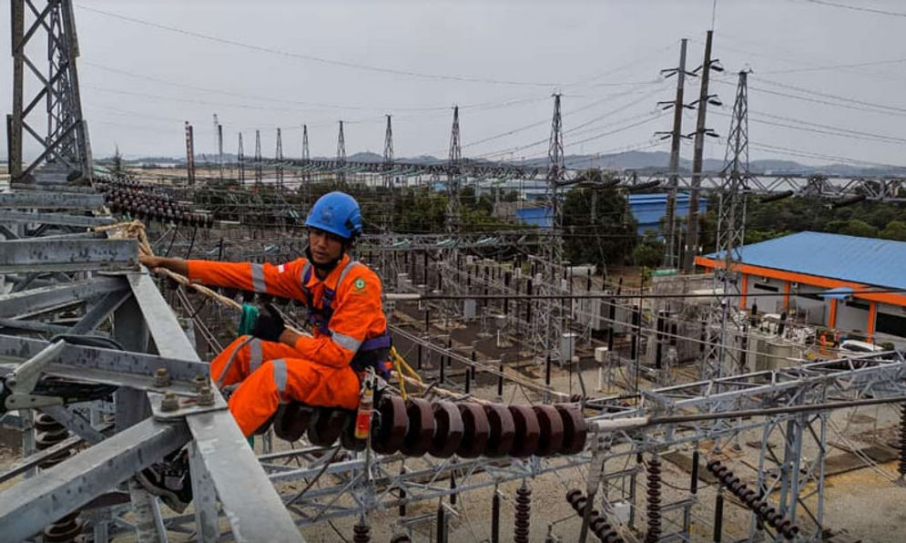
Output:
[[[287,328],[267,304],[251,334],[239,336],[211,361],[211,379],[229,394],[229,412],[246,436],[269,423],[281,402],[355,409],[361,373],[367,367],[386,373],[391,341],[381,280],[348,254],[361,234],[359,204],[343,192],[325,194],[305,225],[305,258],[280,265],[140,259],[150,269],[167,268],[193,282],[291,298],[308,307],[313,337]],[[180,511],[191,500],[184,466],[187,456],[177,454],[144,470],[139,480]]]

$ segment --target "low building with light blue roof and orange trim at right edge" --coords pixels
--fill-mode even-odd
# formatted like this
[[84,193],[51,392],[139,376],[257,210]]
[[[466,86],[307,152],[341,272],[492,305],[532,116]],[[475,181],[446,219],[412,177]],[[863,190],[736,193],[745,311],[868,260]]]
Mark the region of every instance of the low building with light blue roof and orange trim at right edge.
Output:
[[[795,311],[807,323],[906,345],[906,242],[806,231],[746,245],[739,255],[732,267],[740,307]],[[722,268],[723,254],[696,263]]]

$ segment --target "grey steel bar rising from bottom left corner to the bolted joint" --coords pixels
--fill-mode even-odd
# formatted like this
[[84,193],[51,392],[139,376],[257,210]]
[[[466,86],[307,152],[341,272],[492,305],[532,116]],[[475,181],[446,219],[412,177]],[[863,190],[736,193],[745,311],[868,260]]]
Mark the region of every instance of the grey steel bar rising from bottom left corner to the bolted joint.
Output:
[[30,538],[188,442],[186,425],[146,419],[0,493],[0,533]]

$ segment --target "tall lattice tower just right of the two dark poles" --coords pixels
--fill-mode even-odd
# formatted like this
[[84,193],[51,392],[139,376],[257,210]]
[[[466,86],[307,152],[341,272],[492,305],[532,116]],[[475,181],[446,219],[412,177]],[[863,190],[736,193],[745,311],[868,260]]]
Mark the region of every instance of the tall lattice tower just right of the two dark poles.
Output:
[[745,373],[744,355],[739,345],[742,327],[738,312],[732,307],[739,300],[739,284],[732,271],[733,262],[740,260],[739,250],[745,241],[746,192],[748,185],[748,72],[739,72],[733,118],[730,121],[725,166],[721,170],[718,194],[717,255],[723,257],[723,269],[714,271],[714,298],[708,311],[707,352],[702,364],[703,379],[718,379],[724,375]]

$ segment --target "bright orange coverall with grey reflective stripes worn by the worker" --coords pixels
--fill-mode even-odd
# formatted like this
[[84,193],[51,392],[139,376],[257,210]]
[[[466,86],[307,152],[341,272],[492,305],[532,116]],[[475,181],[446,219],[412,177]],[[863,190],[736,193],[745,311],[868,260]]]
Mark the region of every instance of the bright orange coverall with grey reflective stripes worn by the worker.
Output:
[[[273,294],[308,303],[302,278],[309,261],[285,264],[188,261],[192,281]],[[276,413],[280,402],[354,409],[359,405],[359,377],[350,367],[362,342],[386,332],[381,280],[349,255],[321,281],[314,270],[306,286],[312,306],[320,309],[325,286],[332,289],[329,333],[300,337],[292,346],[240,336],[211,361],[211,378],[222,386],[239,384],[229,398],[229,412],[244,435],[251,435]],[[245,343],[242,345],[242,343]]]

